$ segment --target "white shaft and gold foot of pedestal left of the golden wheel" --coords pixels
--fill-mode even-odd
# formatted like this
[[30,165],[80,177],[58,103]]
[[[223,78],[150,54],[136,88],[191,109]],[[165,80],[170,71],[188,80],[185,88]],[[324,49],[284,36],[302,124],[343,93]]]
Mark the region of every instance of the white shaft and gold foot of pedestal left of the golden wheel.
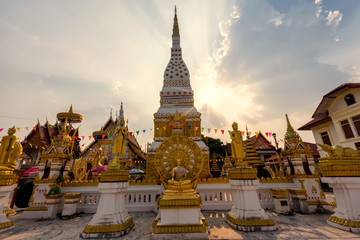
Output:
[[99,206],[80,234],[82,238],[112,238],[129,233],[133,221],[125,208],[125,192],[128,186],[128,182],[99,183]]

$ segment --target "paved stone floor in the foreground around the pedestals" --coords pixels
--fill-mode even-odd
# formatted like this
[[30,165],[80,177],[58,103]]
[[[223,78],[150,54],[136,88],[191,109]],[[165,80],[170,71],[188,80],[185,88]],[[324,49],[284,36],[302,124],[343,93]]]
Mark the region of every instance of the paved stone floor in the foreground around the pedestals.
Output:
[[[278,215],[268,212],[278,226],[272,232],[239,232],[226,222],[226,211],[204,211],[210,225],[209,239],[360,239],[360,234],[346,232],[327,225],[329,214]],[[153,212],[130,213],[135,226],[122,240],[150,239],[150,225],[156,214]],[[1,240],[20,239],[80,239],[79,233],[90,221],[92,214],[80,214],[72,219],[24,220],[19,215],[10,217],[15,228],[0,233]]]

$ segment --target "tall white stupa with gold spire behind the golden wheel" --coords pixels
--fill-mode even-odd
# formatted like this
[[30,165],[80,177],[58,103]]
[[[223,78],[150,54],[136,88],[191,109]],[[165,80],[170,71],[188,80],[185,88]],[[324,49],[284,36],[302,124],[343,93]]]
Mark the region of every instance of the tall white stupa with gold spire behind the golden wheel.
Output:
[[[155,153],[164,140],[175,135],[189,137],[196,142],[204,158],[204,166],[199,176],[210,174],[209,149],[201,140],[201,113],[194,106],[194,91],[190,85],[190,73],[182,58],[181,51],[175,7],[171,57],[164,72],[163,88],[160,91],[160,107],[154,114],[154,142],[148,148],[148,179],[159,180],[159,175],[155,169]],[[186,151],[186,146],[170,144],[168,148],[175,150],[172,153],[176,156],[170,156],[170,151],[164,149],[165,153],[169,153],[164,157],[163,162],[167,171],[171,171],[176,166],[176,162],[170,164],[166,161],[167,158],[180,157],[178,155],[183,155],[181,158],[188,158],[190,167],[194,165],[192,153]]]

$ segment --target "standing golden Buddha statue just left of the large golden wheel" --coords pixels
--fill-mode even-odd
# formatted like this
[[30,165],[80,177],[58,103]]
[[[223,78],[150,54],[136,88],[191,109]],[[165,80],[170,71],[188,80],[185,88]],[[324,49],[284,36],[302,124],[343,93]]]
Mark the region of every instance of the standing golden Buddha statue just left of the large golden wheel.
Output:
[[125,127],[125,120],[124,118],[122,118],[120,120],[120,126],[116,127],[115,129],[115,141],[114,141],[113,149],[111,151],[111,153],[115,154],[115,156],[109,165],[110,169],[121,168],[120,161],[122,160],[123,154],[126,153],[126,145],[125,145],[126,134],[127,134],[127,128]]

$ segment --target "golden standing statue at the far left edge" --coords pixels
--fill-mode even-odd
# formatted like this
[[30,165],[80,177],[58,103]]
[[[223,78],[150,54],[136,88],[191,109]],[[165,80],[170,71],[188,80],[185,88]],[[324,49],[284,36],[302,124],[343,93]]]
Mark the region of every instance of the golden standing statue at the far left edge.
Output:
[[16,158],[22,153],[22,146],[16,141],[15,126],[9,128],[8,135],[2,137],[0,146],[0,170],[13,170],[16,166]]

